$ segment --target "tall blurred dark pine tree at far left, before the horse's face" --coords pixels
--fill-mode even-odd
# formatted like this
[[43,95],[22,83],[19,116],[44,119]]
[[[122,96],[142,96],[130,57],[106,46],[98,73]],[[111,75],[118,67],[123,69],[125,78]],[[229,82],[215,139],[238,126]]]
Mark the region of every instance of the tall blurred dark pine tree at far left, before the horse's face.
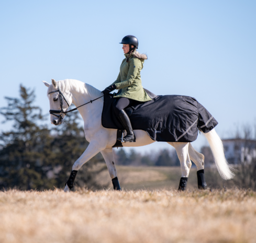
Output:
[[[20,98],[5,97],[8,106],[2,108],[5,121],[13,121],[13,129],[0,135],[3,148],[0,151],[0,187],[23,190],[42,188],[47,181],[45,157],[39,155],[50,136],[43,121],[41,109],[33,106],[34,90],[20,85]],[[45,155],[47,156],[47,155]],[[50,181],[52,183],[52,181]]]

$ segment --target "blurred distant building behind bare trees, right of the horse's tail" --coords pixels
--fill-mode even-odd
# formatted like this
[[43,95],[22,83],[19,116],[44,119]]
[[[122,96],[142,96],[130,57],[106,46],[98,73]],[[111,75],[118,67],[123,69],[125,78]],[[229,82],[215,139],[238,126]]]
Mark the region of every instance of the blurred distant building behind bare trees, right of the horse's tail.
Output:
[[222,140],[225,157],[230,164],[251,163],[256,159],[256,140],[233,138]]

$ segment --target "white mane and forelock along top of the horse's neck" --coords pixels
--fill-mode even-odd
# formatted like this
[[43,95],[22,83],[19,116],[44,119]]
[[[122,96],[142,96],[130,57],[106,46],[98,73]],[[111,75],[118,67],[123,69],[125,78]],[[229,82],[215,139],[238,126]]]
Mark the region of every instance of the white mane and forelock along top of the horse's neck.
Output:
[[[75,79],[64,79],[64,80],[59,80],[57,82],[59,89],[61,90],[62,94],[65,94],[66,90],[76,90],[80,92],[81,94],[87,94],[92,98],[97,98],[99,96],[102,96],[102,92],[99,91],[98,89],[94,88],[90,84],[85,84],[79,80]],[[53,91],[54,87],[51,84],[48,87],[47,90],[47,96],[49,92]]]

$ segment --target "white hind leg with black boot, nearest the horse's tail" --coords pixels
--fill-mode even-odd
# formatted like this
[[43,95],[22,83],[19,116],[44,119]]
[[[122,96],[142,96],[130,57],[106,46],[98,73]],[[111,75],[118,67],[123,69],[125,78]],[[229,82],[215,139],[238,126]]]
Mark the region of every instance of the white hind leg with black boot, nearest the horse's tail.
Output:
[[204,155],[201,153],[198,153],[191,145],[191,143],[188,145],[188,153],[190,154],[191,160],[195,163],[197,168],[197,184],[198,188],[201,190],[207,189],[207,184],[205,181],[205,175],[204,175]]

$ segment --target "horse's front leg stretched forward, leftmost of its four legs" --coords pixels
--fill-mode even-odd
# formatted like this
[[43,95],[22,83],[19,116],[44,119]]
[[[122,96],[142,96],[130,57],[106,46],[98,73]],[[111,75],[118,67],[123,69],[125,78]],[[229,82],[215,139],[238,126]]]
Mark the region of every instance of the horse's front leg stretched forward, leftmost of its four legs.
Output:
[[101,152],[105,149],[106,144],[103,142],[99,142],[93,140],[90,142],[88,147],[85,149],[84,153],[77,159],[72,167],[72,171],[69,177],[69,180],[65,184],[64,191],[69,192],[71,188],[74,186],[74,180],[76,177],[77,171],[85,164],[88,160],[90,160],[97,153]]

